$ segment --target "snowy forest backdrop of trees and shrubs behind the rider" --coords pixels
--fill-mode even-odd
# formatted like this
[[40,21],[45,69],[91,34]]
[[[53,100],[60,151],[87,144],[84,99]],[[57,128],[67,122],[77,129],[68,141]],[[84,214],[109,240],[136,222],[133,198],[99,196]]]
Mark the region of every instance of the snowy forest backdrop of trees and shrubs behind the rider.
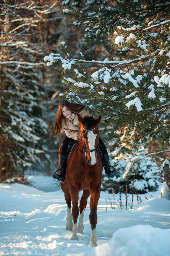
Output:
[[1,182],[25,182],[30,170],[53,174],[64,138],[56,138],[53,124],[66,98],[102,116],[101,136],[119,172],[109,181],[103,176],[103,190],[158,188],[162,162],[170,160],[169,6],[0,2]]

